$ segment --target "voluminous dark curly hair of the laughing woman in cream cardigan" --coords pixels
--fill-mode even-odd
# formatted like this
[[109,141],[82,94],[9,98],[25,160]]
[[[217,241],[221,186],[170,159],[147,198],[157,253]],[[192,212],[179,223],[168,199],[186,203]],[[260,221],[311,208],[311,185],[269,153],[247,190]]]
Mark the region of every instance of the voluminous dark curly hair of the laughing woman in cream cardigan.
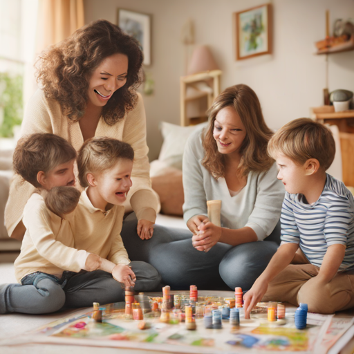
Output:
[[59,102],[70,120],[78,121],[86,110],[88,82],[103,59],[116,53],[127,55],[127,82],[102,108],[106,124],[113,125],[131,111],[142,82],[142,50],[138,41],[104,19],[76,30],[59,44],[50,46],[37,61],[37,82],[47,98]]

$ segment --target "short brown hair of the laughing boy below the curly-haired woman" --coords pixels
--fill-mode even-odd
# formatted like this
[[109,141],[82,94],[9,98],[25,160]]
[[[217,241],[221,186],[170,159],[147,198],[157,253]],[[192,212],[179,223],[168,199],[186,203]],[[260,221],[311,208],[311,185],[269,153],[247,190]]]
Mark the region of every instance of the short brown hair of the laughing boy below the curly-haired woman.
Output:
[[87,174],[111,169],[121,158],[134,160],[134,150],[127,142],[106,137],[86,140],[77,155],[80,185],[88,187]]

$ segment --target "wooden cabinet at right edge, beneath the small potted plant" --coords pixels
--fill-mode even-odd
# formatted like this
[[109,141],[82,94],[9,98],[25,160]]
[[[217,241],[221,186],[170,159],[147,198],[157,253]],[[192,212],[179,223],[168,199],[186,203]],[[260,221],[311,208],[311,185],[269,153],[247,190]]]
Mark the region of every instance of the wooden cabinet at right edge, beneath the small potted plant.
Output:
[[333,106],[310,109],[311,118],[339,128],[343,182],[354,187],[354,110],[335,112]]

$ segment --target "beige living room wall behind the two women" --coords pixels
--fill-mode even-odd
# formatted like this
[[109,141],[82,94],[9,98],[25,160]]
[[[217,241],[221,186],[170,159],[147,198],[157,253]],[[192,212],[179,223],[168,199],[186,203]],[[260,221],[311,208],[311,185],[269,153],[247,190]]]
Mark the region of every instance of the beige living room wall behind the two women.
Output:
[[[118,8],[152,15],[152,64],[145,68],[155,80],[155,93],[144,96],[150,159],[157,158],[162,138],[158,122],[179,124],[179,77],[184,75],[180,33],[188,18],[195,24],[196,44],[207,44],[223,71],[221,89],[248,84],[259,96],[269,127],[306,117],[310,106],[323,103],[324,55],[314,55],[315,41],[324,39],[325,12],[335,19],[354,18],[353,0],[274,0],[274,50],[242,61],[234,59],[232,13],[265,0],[85,0],[85,21],[115,23]],[[329,90],[354,91],[354,51],[328,56]]]

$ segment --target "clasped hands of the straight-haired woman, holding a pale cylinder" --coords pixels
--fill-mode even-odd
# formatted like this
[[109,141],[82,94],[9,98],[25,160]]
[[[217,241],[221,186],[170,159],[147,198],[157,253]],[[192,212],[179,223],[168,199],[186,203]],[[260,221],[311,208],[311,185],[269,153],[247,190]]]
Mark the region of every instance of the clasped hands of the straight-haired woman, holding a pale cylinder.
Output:
[[216,226],[210,221],[201,223],[198,232],[192,237],[193,247],[198,251],[209,251],[221,238],[222,227]]

